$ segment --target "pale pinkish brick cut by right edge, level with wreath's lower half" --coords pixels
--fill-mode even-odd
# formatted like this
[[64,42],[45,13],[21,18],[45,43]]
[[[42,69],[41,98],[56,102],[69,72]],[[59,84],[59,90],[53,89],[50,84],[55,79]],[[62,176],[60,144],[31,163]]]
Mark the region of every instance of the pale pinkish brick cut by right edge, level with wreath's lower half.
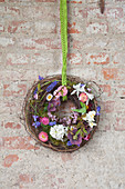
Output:
[[124,115],[123,115],[123,117],[121,116],[121,117],[116,118],[115,130],[116,131],[125,131],[125,118],[124,118]]

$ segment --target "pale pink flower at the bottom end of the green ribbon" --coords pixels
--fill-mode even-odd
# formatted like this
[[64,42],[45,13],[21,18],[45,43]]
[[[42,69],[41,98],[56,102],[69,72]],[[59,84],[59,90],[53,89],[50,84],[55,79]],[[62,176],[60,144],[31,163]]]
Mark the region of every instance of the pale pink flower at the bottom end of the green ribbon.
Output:
[[60,86],[60,87],[53,92],[53,94],[54,94],[55,97],[64,97],[64,96],[67,94],[67,89],[66,89],[66,87],[64,87],[64,86]]

